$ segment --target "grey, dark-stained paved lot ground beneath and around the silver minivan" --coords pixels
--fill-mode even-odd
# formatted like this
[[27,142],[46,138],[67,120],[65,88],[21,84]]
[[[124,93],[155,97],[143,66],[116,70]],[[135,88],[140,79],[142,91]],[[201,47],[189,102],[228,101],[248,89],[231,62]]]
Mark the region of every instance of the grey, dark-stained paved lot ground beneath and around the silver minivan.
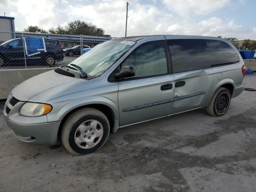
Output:
[[[246,76],[256,88],[256,76]],[[74,156],[61,142],[32,145],[6,126],[0,103],[0,191],[256,191],[256,92],[228,112],[194,110],[120,128],[93,154]]]

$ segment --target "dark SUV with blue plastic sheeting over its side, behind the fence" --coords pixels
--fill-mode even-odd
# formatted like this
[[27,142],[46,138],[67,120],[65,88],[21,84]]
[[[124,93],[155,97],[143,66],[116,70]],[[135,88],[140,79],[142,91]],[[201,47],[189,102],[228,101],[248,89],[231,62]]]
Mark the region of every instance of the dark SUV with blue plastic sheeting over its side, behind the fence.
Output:
[[[56,62],[64,58],[63,47],[59,40],[51,38],[37,38],[41,40],[41,47],[33,41],[36,38],[29,37],[11,39],[0,44],[0,66],[24,66],[25,57],[28,65],[48,65],[53,67]],[[28,47],[28,40],[34,42]],[[27,41],[27,43],[26,43]],[[25,45],[25,47],[23,46]],[[34,53],[29,49],[33,48]]]

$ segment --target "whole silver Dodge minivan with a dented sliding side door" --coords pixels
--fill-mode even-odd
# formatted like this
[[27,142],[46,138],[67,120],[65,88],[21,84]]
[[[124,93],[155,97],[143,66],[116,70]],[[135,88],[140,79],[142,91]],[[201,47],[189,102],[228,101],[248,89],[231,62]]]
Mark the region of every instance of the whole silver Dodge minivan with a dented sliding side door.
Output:
[[67,66],[16,86],[4,118],[20,140],[88,154],[120,127],[206,108],[224,115],[243,88],[244,62],[229,41],[136,36],[99,44]]

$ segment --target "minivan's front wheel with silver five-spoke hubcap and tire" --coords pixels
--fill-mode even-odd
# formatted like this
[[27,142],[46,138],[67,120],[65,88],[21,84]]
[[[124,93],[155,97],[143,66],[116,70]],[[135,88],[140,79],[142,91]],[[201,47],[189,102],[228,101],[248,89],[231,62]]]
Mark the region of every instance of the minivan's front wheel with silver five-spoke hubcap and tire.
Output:
[[65,120],[61,140],[70,153],[83,155],[101,148],[108,139],[109,132],[108,118],[102,112],[94,108],[82,108]]

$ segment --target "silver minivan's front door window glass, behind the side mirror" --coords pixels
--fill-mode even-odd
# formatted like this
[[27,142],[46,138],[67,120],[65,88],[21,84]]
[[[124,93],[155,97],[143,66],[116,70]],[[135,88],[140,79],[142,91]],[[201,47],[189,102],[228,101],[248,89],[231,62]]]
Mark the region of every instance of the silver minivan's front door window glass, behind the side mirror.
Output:
[[132,66],[136,77],[147,77],[167,74],[167,60],[163,42],[156,41],[142,44],[134,50],[122,63],[122,66]]

